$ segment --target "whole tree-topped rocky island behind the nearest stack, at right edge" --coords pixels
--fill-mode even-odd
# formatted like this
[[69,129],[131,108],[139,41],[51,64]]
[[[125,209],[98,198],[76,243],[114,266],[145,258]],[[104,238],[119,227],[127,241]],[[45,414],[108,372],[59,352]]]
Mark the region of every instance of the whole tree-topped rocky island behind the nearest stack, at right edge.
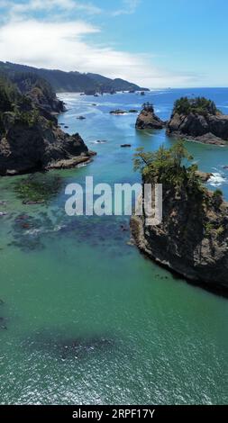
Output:
[[193,139],[205,144],[225,145],[228,141],[228,115],[205,98],[180,98],[167,125],[168,135]]

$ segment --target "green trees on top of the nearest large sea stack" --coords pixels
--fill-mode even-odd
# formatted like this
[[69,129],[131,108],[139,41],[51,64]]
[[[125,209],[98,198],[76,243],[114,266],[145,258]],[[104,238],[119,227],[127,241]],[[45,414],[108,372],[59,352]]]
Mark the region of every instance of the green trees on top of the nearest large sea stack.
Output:
[[141,175],[147,182],[158,181],[160,184],[172,184],[181,188],[186,186],[195,192],[202,193],[204,187],[196,174],[197,166],[191,164],[193,160],[179,140],[171,148],[163,146],[156,152],[144,152],[138,148],[134,158],[134,170],[140,170]]

